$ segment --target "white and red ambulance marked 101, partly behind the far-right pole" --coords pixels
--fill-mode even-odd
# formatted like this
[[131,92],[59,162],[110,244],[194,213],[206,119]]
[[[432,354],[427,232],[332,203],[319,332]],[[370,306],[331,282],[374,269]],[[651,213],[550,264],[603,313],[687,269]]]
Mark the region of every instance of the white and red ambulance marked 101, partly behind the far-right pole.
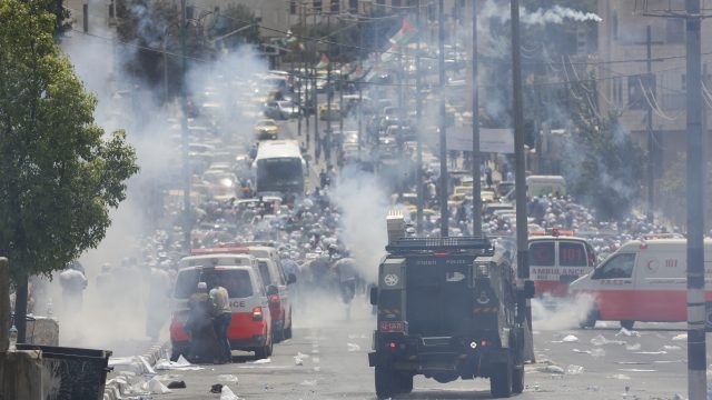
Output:
[[[581,322],[686,321],[686,240],[643,239],[623,244],[596,269],[570,286],[573,296],[591,294],[594,307]],[[705,281],[712,274],[712,240],[704,241]],[[705,291],[705,301],[712,292]]]

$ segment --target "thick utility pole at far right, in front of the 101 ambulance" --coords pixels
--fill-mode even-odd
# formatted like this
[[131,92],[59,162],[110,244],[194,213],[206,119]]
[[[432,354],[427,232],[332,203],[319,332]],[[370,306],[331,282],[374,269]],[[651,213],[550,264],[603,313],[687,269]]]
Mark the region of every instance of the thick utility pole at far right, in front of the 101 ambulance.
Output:
[[708,396],[704,302],[704,141],[700,0],[686,0],[688,78],[688,396]]

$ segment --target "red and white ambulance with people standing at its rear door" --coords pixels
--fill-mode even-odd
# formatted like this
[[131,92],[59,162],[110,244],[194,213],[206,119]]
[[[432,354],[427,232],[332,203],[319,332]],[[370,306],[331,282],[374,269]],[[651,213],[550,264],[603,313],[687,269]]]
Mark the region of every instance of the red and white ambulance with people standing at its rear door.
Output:
[[188,319],[188,299],[198,282],[218,282],[229,293],[233,319],[228,339],[233,350],[254,351],[257,359],[271,356],[273,331],[267,290],[249,254],[215,253],[181,260],[172,294],[170,340],[171,359],[190,353],[190,337],[184,330]]

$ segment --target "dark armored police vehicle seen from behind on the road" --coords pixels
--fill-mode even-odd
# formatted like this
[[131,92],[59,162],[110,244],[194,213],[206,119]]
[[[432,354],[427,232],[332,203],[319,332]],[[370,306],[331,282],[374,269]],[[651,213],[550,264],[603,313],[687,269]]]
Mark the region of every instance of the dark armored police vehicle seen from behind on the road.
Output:
[[[388,217],[387,256],[370,302],[378,311],[373,352],[376,393],[413,390],[413,377],[441,383],[490,378],[492,396],[524,389],[531,343],[512,258],[484,237],[404,238]],[[525,336],[527,338],[525,338]]]

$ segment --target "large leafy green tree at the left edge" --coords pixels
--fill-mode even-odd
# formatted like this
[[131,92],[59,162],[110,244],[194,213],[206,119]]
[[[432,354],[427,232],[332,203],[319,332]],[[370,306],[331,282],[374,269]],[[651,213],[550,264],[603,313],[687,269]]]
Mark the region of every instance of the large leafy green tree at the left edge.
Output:
[[126,134],[95,123],[97,100],[53,42],[47,1],[0,2],[0,256],[20,339],[28,276],[51,277],[97,247],[138,171]]

